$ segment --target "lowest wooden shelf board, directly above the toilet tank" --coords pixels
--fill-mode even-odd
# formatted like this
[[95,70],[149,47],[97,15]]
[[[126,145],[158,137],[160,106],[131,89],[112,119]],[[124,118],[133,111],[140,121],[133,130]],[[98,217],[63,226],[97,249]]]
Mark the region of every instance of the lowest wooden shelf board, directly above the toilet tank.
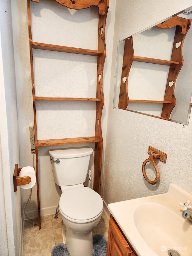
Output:
[[38,140],[38,147],[42,146],[54,146],[65,144],[79,144],[87,142],[99,142],[97,137],[79,137],[79,138],[67,138],[67,139],[54,139],[54,140]]

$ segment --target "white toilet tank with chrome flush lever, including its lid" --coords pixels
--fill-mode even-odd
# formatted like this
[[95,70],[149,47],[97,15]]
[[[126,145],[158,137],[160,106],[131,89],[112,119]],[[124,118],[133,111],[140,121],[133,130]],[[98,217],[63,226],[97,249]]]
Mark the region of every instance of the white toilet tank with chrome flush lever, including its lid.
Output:
[[89,147],[51,149],[51,160],[60,160],[59,163],[51,161],[55,183],[69,186],[85,182],[92,152]]

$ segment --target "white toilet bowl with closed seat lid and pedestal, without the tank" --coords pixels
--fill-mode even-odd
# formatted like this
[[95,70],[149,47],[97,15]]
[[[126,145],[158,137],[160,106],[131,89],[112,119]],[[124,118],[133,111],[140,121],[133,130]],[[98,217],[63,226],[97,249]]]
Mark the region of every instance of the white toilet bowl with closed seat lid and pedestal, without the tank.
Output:
[[102,216],[102,198],[82,184],[82,186],[62,192],[59,210],[64,225],[67,227],[66,245],[70,255],[91,256],[93,252],[92,230]]

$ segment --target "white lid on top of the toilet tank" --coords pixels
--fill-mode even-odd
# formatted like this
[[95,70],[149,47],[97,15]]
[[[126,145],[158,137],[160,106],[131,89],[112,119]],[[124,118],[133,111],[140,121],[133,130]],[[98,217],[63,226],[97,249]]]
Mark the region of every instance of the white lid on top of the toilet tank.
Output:
[[79,147],[79,148],[65,148],[65,149],[51,149],[49,155],[54,158],[74,158],[85,155],[91,155],[92,148]]

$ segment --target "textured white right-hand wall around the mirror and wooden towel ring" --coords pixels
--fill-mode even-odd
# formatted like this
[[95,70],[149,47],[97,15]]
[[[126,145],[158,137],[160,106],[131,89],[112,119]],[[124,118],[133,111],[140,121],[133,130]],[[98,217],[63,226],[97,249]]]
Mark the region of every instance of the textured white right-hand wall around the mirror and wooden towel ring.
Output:
[[[107,125],[103,198],[113,203],[167,192],[170,183],[191,193],[191,126],[158,118],[113,109],[117,44],[159,21],[191,6],[191,1],[116,1],[116,19],[110,101]],[[142,164],[149,157],[151,145],[167,153],[167,163],[157,160],[160,181],[146,182]],[[148,164],[146,173],[154,179],[154,168]]]

